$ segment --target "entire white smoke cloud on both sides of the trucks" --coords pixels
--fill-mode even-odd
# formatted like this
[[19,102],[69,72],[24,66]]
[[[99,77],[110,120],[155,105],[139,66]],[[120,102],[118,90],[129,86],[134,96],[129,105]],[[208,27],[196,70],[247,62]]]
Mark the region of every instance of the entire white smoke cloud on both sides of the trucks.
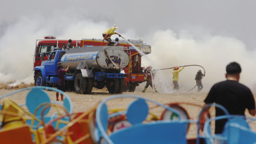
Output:
[[[104,21],[95,22],[83,17],[58,17],[58,12],[47,18],[40,15],[19,18],[17,22],[7,27],[5,34],[0,38],[0,81],[34,83],[34,71],[31,69],[36,39],[42,39],[46,34],[58,35],[59,39],[102,38],[102,32],[113,24],[118,25]],[[118,28],[117,33],[123,31],[121,29]],[[197,33],[188,30],[181,30],[180,33],[174,33],[170,29],[156,30],[148,31],[145,37],[138,37],[136,31],[126,29],[122,36],[127,39],[141,38],[151,45],[151,54],[148,57],[157,68],[203,66],[206,70],[206,77],[203,79],[204,91],[209,91],[214,83],[225,80],[226,65],[231,61],[236,61],[242,66],[241,82],[254,88],[253,64],[256,51],[246,50],[246,45],[234,37],[211,35],[200,29],[194,31]],[[142,66],[148,65],[150,63],[144,59]],[[186,67],[180,72],[181,91],[187,91],[195,86],[198,69],[203,70],[200,67]],[[163,92],[165,90],[161,87],[171,89],[171,72],[172,70],[163,70],[157,73],[154,79],[157,89]],[[161,82],[163,78],[159,78],[160,73],[164,76],[164,83]],[[141,85],[144,86],[145,83]]]

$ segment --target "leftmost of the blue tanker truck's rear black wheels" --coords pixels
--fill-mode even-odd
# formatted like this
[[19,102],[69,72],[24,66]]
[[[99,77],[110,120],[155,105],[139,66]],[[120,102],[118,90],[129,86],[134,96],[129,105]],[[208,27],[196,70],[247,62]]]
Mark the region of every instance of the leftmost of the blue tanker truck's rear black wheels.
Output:
[[81,73],[76,75],[74,87],[75,87],[76,93],[78,93],[78,94],[85,93],[85,91],[86,91],[86,78],[83,78]]

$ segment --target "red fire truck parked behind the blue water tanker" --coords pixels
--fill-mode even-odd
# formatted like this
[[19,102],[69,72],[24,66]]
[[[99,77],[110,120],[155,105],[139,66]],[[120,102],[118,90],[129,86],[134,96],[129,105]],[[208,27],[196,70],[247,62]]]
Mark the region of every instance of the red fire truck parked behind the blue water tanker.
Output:
[[[112,42],[114,42],[113,40]],[[141,39],[132,40],[127,39],[130,43],[136,46],[140,51],[144,54],[151,53],[151,46],[143,43]],[[127,92],[135,91],[135,88],[139,86],[139,84],[146,82],[147,77],[149,76],[146,73],[144,67],[141,67],[142,63],[142,55],[129,43],[125,40],[119,40],[119,46],[123,46],[123,50],[129,54],[130,61],[129,65],[121,71],[121,73],[125,73],[125,85]],[[41,66],[42,61],[49,60],[49,56],[52,51],[60,49],[65,50],[65,44],[68,43],[68,39],[58,39],[58,37],[54,36],[45,36],[44,39],[36,39],[35,53],[34,53],[34,62],[33,62],[33,71],[36,66]],[[80,40],[72,40],[71,47],[94,47],[106,45],[107,42],[103,41],[103,39],[80,39]],[[111,45],[111,44],[110,44]],[[43,56],[43,57],[42,57]],[[114,60],[114,58],[113,58]],[[108,61],[111,62],[111,61]],[[94,67],[95,68],[95,67]],[[93,68],[93,69],[94,69]],[[68,89],[73,88],[73,81],[67,81]],[[69,84],[71,83],[71,84]],[[71,86],[71,87],[70,87]]]

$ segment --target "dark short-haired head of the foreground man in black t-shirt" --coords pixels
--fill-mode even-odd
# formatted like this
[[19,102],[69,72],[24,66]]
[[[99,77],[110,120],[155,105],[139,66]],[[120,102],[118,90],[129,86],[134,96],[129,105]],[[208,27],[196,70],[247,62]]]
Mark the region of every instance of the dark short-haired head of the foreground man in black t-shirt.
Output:
[[235,78],[237,81],[239,81],[240,73],[242,71],[240,65],[237,62],[230,62],[226,67],[226,78],[232,79]]

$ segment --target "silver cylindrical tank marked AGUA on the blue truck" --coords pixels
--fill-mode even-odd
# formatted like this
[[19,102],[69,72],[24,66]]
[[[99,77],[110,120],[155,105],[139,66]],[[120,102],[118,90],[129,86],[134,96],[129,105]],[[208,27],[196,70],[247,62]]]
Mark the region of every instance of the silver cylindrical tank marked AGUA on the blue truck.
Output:
[[61,57],[60,61],[64,68],[70,65],[70,70],[77,68],[102,69],[103,71],[116,69],[105,51],[119,69],[124,69],[129,64],[129,55],[123,50],[123,46],[93,46],[66,49],[66,54]]

